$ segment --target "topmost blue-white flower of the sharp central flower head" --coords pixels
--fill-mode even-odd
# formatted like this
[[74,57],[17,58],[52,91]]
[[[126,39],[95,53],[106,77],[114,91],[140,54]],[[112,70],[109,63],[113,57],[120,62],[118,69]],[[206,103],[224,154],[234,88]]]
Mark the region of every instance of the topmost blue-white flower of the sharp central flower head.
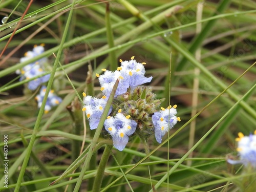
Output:
[[145,65],[145,62],[139,63],[134,60],[134,56],[131,58],[130,61],[122,61],[121,67],[118,68],[118,70],[121,71],[122,76],[128,78],[126,79],[129,81],[129,84],[132,89],[136,88],[137,86],[140,86],[141,84],[151,82],[152,77],[145,77],[145,68],[143,65]]

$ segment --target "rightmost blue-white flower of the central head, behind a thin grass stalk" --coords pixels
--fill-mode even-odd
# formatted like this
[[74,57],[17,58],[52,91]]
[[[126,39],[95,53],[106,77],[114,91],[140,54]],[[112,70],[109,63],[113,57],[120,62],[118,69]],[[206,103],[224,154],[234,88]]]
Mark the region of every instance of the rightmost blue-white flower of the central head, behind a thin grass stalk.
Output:
[[162,137],[174,127],[177,121],[180,121],[177,114],[177,105],[168,106],[167,109],[161,108],[162,111],[155,112],[152,116],[152,122],[155,126],[155,137],[157,142],[162,142]]

